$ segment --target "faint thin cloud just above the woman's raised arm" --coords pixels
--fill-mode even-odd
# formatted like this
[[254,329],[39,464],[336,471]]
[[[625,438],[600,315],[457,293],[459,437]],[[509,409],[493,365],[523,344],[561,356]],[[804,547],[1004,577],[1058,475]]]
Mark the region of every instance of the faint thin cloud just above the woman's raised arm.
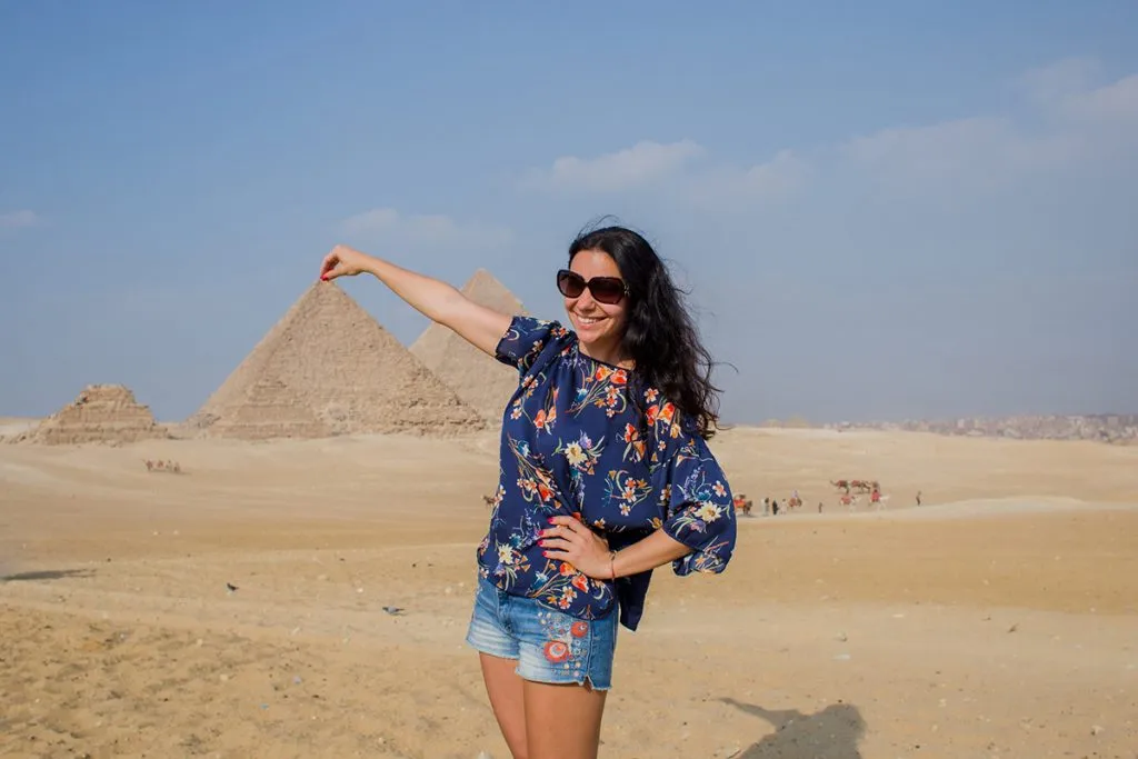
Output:
[[403,215],[395,208],[372,208],[344,220],[340,229],[370,242],[410,248],[494,248],[513,240],[504,226],[459,223],[443,215]]

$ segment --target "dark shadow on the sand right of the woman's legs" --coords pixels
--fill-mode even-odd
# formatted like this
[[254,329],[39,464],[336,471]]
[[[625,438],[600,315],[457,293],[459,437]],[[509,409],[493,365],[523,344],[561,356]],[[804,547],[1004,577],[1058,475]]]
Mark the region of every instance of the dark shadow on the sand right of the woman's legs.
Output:
[[865,733],[865,720],[857,707],[832,703],[810,715],[797,709],[764,709],[734,699],[719,699],[775,727],[735,759],[861,759],[857,749]]

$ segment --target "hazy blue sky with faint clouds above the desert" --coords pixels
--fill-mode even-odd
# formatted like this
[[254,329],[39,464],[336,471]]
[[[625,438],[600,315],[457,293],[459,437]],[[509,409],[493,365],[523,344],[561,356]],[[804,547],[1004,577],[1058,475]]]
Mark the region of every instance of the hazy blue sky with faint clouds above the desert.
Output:
[[933,5],[2,3],[0,414],[187,416],[341,241],[560,317],[602,214],[729,421],[1138,411],[1138,3]]

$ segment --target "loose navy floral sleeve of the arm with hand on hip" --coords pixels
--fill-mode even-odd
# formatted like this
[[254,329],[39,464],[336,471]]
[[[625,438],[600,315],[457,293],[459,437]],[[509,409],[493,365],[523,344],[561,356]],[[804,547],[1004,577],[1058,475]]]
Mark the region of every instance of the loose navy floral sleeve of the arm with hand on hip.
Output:
[[707,442],[688,436],[666,468],[663,531],[692,548],[671,567],[677,575],[721,572],[735,550],[735,505],[727,478]]

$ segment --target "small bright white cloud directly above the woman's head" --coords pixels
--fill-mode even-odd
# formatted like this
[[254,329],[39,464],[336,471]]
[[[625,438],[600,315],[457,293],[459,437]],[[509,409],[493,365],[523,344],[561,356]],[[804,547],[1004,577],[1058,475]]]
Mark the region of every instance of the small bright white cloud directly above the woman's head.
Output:
[[595,158],[563,156],[523,183],[592,192],[627,190],[671,176],[702,155],[703,148],[691,140],[667,145],[645,140]]

